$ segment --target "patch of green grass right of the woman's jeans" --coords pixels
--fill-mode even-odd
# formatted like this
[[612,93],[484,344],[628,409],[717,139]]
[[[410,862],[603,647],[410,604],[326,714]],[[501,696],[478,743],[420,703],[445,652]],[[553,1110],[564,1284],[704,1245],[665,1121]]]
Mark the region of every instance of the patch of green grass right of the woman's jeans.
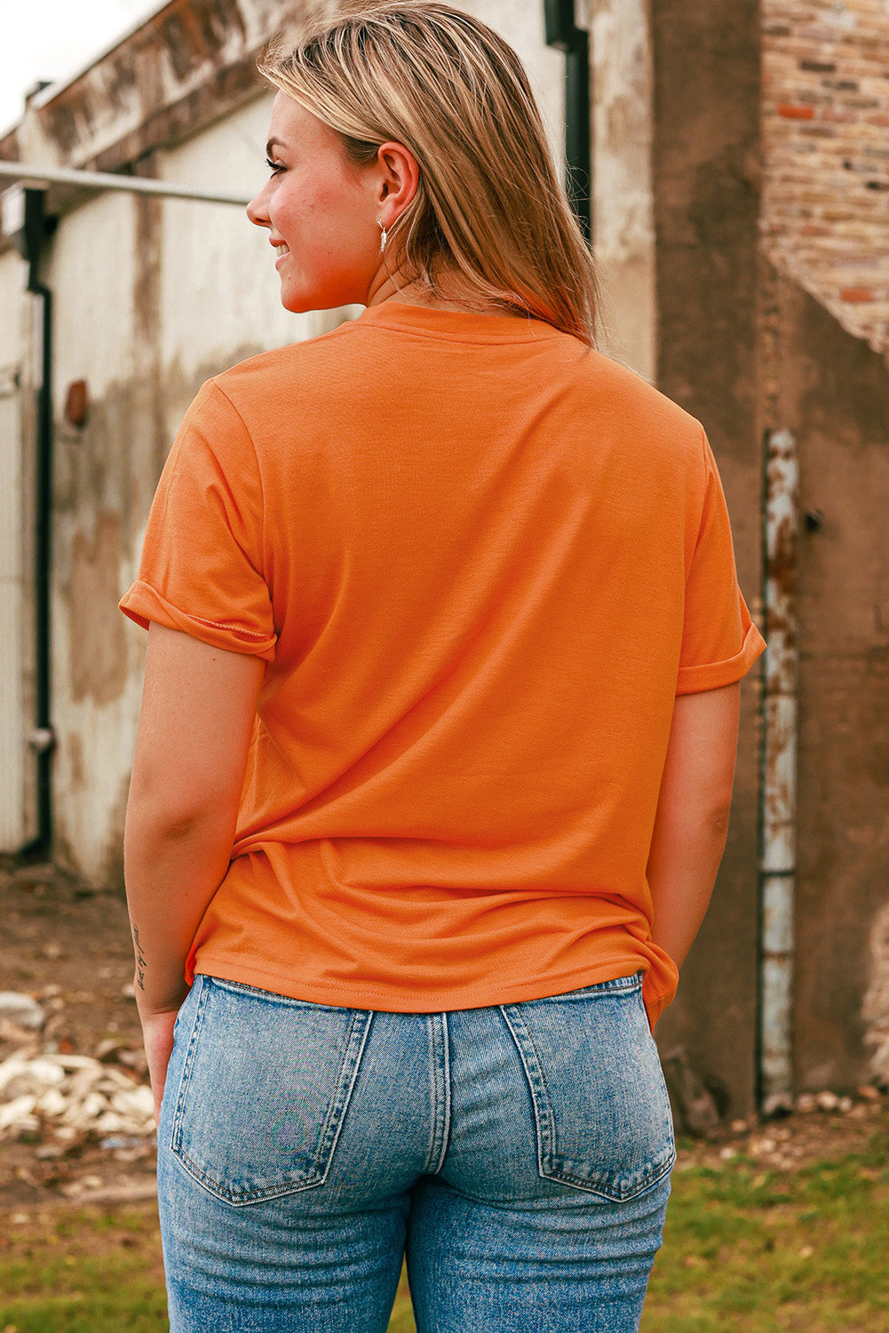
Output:
[[678,1170],[642,1333],[889,1333],[888,1149]]

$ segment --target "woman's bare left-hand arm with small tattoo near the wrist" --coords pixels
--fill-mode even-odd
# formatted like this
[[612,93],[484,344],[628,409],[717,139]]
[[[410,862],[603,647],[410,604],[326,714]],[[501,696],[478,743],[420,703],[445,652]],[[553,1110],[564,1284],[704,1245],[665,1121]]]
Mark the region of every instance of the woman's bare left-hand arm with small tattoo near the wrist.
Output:
[[124,873],[156,1113],[185,960],[232,854],[264,672],[257,657],[149,627]]

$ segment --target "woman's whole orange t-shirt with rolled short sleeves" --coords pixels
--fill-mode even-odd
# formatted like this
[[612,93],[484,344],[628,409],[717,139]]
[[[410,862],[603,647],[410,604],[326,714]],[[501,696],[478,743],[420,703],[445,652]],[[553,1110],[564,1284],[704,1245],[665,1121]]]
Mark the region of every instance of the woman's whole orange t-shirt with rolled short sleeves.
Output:
[[387,301],[203,387],[121,601],[265,660],[189,958],[431,1012],[676,968],[645,866],[676,693],[762,651],[701,427],[537,320]]

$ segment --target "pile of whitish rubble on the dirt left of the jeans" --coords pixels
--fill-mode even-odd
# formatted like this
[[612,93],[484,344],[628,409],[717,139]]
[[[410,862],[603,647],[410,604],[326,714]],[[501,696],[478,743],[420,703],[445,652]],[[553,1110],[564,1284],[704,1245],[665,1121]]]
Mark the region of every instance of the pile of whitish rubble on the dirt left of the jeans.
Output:
[[44,1130],[61,1142],[81,1134],[153,1133],[151,1088],[91,1056],[17,1050],[0,1062],[0,1138]]

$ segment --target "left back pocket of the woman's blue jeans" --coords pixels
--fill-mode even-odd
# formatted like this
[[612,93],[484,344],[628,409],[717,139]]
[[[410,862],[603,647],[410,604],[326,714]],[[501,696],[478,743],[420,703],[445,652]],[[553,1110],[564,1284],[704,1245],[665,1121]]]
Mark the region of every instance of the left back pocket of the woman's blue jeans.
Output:
[[212,977],[195,989],[172,1152],[231,1204],[324,1184],[372,1014]]

